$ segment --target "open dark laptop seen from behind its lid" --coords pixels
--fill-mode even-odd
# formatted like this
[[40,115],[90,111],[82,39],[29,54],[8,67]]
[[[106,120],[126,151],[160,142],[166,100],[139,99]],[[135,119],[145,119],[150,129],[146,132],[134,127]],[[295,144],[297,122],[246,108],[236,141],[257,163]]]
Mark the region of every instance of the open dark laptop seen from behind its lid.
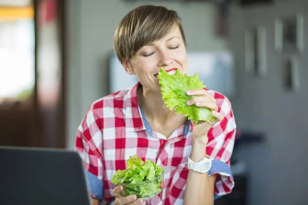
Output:
[[78,153],[0,146],[0,204],[90,205]]

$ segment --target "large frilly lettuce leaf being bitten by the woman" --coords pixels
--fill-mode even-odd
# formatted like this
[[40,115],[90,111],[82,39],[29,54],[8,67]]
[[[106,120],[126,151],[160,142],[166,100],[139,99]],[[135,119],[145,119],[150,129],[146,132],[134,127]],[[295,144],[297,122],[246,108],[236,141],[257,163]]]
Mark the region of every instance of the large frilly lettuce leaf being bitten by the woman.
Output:
[[198,74],[194,76],[182,75],[180,70],[176,74],[170,75],[161,68],[158,73],[158,80],[161,86],[163,100],[170,110],[176,110],[177,114],[183,114],[194,124],[199,121],[214,121],[215,117],[208,108],[197,107],[196,105],[188,106],[186,102],[195,96],[188,96],[188,90],[203,89],[203,81],[199,80]]

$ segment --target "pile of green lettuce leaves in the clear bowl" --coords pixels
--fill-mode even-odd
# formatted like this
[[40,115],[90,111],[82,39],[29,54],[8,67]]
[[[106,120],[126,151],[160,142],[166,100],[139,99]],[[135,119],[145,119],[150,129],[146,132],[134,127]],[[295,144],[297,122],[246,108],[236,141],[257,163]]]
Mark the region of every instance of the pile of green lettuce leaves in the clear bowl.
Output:
[[125,170],[118,170],[111,178],[112,183],[123,186],[124,196],[150,198],[162,191],[164,179],[162,167],[150,160],[144,162],[137,155],[130,156],[126,163],[128,167]]

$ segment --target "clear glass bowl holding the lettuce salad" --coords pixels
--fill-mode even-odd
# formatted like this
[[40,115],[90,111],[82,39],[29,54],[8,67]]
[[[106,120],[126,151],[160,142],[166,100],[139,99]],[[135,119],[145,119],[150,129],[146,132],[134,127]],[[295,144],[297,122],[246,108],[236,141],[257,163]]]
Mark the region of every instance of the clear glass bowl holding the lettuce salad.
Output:
[[174,166],[162,167],[164,169],[163,174],[157,176],[153,179],[138,183],[119,183],[117,186],[122,186],[122,195],[136,195],[138,199],[149,200],[159,193],[162,192],[164,188],[165,175],[176,169]]

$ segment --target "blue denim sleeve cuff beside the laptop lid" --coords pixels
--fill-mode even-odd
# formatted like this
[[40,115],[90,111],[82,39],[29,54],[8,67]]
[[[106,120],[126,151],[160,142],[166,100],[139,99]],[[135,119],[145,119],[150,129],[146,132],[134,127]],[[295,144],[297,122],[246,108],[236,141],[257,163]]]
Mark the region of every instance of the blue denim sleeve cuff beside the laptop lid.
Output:
[[97,199],[103,199],[104,196],[104,182],[89,171],[86,171],[88,178],[88,187],[91,195]]

